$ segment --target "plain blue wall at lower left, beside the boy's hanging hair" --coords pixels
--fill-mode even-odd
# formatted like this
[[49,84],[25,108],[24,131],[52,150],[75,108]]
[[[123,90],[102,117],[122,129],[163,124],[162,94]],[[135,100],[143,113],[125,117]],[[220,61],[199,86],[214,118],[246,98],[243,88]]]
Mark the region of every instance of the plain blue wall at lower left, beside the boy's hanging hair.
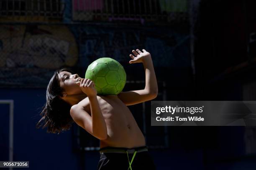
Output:
[[[14,100],[15,161],[29,161],[30,169],[78,169],[77,155],[72,153],[71,131],[59,135],[36,129],[38,108],[45,102],[45,90],[1,89],[0,99]],[[2,129],[3,131],[7,130]],[[8,147],[8,146],[6,146]],[[62,165],[65,163],[65,165]]]

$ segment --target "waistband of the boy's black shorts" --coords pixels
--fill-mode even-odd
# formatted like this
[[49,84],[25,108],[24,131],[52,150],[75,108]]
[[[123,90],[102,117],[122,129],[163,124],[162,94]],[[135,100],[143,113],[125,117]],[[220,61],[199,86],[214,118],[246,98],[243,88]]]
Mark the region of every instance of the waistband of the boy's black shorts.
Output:
[[148,151],[147,146],[141,146],[136,148],[118,148],[118,147],[104,147],[100,148],[99,152],[101,153],[134,153],[137,151],[137,153]]

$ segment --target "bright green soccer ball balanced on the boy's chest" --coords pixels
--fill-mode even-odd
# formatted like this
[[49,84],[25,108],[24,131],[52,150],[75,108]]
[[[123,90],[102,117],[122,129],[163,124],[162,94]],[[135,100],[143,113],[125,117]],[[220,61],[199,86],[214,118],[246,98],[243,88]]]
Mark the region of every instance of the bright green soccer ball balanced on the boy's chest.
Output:
[[125,86],[126,73],[118,61],[103,57],[88,66],[85,78],[95,83],[97,94],[118,95]]

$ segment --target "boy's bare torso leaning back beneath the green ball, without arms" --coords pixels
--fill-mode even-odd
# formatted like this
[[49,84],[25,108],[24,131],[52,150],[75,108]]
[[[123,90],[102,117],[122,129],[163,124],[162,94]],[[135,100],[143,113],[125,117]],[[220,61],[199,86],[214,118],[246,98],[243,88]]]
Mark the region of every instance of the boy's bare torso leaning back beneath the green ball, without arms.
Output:
[[[145,138],[128,107],[117,95],[97,95],[102,115],[105,119],[108,138],[100,140],[100,148],[135,148],[145,146]],[[88,97],[86,111],[91,114]]]

